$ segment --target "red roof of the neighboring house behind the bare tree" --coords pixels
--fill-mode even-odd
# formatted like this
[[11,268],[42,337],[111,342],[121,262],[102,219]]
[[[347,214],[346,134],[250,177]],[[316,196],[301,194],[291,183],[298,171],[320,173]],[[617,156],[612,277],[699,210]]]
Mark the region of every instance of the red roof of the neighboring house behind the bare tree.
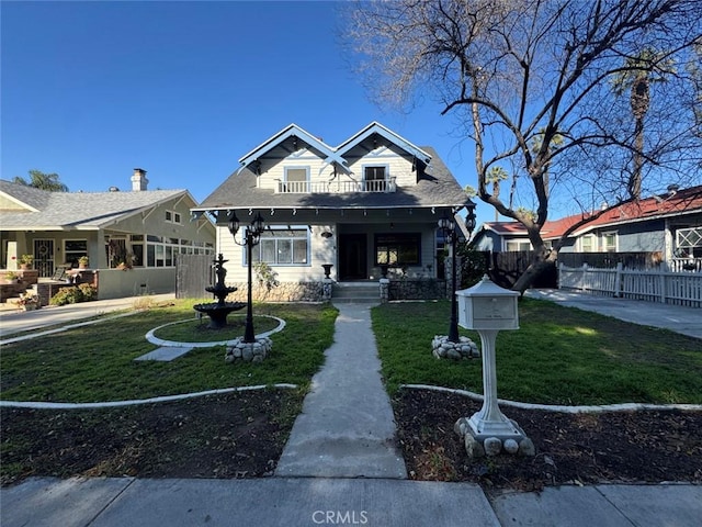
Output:
[[[579,236],[599,227],[700,212],[702,212],[702,186],[654,195],[645,200],[627,201],[588,221],[574,231],[571,235]],[[542,237],[544,239],[559,238],[568,228],[582,221],[584,217],[582,214],[574,214],[559,220],[547,221],[541,229]],[[501,236],[526,236],[524,226],[519,222],[486,222],[483,224],[483,229],[494,231]]]

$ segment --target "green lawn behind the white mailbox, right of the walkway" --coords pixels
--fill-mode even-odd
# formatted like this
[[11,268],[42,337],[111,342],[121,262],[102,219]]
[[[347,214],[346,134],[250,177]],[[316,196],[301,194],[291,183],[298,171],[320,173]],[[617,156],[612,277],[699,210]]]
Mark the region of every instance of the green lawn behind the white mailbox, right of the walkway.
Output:
[[[373,310],[383,375],[483,393],[482,359],[438,360],[450,304],[398,303]],[[551,404],[702,403],[702,341],[551,302],[522,299],[520,329],[497,337],[498,396]],[[461,328],[475,340],[477,332]]]

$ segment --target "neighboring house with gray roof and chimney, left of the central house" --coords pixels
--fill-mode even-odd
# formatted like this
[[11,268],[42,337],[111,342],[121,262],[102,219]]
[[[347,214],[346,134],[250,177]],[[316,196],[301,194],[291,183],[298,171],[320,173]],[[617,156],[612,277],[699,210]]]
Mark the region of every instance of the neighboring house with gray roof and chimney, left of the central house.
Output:
[[[100,270],[100,298],[174,291],[178,254],[214,254],[215,228],[191,222],[197,203],[186,190],[147,190],[135,169],[132,191],[48,192],[0,180],[0,250],[3,267],[34,256],[39,278],[76,268],[87,256]],[[117,268],[132,272],[117,273]],[[110,272],[114,269],[114,272]]]

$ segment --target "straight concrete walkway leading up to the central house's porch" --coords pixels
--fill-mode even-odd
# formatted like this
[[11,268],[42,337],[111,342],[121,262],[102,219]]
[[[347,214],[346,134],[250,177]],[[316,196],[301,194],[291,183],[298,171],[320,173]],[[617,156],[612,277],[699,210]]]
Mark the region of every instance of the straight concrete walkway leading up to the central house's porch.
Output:
[[371,332],[371,304],[336,306],[335,344],[313,377],[275,475],[405,479]]

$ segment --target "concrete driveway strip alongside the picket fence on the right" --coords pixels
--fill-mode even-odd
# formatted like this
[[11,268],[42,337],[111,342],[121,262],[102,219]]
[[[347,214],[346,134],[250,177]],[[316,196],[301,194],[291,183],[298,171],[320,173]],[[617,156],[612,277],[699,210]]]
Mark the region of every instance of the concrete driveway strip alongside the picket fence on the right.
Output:
[[562,289],[530,289],[525,295],[531,299],[550,300],[568,307],[593,311],[642,326],[670,329],[689,337],[702,338],[700,307],[598,296]]

